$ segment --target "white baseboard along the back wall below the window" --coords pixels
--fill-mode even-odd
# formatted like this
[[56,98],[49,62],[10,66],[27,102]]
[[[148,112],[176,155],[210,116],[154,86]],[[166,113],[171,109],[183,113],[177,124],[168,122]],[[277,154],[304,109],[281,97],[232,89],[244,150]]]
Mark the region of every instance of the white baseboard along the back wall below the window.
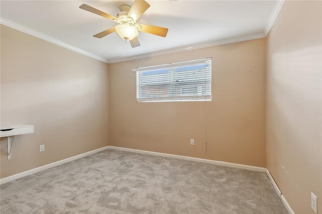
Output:
[[196,161],[196,162],[201,162],[201,163],[209,163],[209,164],[227,166],[227,167],[233,167],[233,168],[239,168],[239,169],[248,169],[248,170],[258,171],[258,172],[265,172],[266,171],[266,168],[257,167],[257,166],[248,166],[248,165],[237,164],[237,163],[228,163],[228,162],[223,162],[223,161],[193,158],[193,157],[188,157],[188,156],[172,155],[172,154],[166,154],[166,153],[160,153],[160,152],[150,152],[150,151],[129,149],[129,148],[124,148],[124,147],[116,147],[116,146],[108,146],[108,149],[126,151],[126,152],[135,152],[135,153],[148,154],[148,155],[156,155],[156,156],[162,156],[162,157],[168,157],[168,158],[176,158],[176,159],[181,159],[181,160]]

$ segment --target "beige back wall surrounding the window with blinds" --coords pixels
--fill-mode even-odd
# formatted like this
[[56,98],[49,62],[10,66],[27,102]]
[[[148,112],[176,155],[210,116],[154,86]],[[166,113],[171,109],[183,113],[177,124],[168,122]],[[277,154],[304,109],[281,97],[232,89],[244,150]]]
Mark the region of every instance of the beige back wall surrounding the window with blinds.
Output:
[[[212,57],[212,101],[136,102],[131,69],[204,57]],[[109,71],[109,145],[266,167],[266,39],[114,63]]]

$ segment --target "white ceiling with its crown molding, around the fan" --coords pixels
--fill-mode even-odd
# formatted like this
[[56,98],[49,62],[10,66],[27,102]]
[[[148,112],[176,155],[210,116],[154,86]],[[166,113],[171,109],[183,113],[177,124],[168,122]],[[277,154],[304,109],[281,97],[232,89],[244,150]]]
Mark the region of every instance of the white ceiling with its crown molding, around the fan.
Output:
[[262,38],[273,25],[283,1],[146,0],[150,8],[138,23],[169,29],[166,38],[140,32],[141,46],[131,48],[117,33],[93,37],[116,25],[79,9],[88,4],[116,16],[133,1],[1,1],[1,23],[106,62],[142,58]]

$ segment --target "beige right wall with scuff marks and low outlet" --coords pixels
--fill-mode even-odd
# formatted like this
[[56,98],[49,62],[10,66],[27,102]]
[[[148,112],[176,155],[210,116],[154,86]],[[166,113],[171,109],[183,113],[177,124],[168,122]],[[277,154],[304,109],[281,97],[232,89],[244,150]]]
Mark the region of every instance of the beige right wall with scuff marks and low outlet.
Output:
[[322,213],[321,1],[286,1],[268,36],[267,168],[295,213]]

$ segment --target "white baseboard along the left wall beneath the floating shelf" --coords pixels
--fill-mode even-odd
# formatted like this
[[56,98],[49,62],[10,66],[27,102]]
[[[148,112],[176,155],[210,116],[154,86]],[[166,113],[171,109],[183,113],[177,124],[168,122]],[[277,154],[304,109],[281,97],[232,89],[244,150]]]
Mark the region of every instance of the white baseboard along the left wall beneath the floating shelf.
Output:
[[0,179],[0,185],[108,149],[107,146]]

